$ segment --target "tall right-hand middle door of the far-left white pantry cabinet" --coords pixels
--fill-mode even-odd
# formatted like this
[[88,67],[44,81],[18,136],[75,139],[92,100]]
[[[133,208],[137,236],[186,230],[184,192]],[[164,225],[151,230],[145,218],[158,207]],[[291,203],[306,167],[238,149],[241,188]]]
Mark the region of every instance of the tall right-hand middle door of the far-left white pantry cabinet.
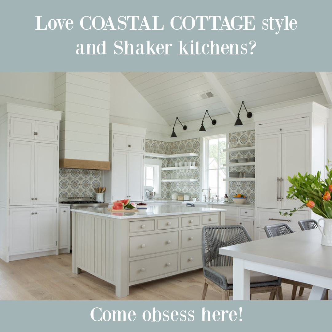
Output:
[[57,170],[57,145],[35,143],[35,205],[56,204]]

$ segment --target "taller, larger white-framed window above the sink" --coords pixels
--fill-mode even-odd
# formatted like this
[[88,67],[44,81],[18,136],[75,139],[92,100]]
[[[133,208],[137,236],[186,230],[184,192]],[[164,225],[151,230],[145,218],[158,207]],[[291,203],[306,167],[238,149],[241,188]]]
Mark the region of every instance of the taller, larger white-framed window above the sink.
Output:
[[226,167],[222,166],[226,163],[226,152],[223,152],[226,148],[225,135],[206,138],[204,148],[204,189],[211,188],[211,196],[224,197],[228,189],[223,181],[226,178]]

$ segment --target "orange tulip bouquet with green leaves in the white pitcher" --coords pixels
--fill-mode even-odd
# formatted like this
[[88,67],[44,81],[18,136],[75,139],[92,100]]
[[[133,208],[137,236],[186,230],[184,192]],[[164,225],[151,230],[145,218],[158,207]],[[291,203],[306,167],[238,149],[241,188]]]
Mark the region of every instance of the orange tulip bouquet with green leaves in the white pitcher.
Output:
[[317,172],[316,175],[308,173],[301,175],[298,173],[293,177],[288,177],[291,186],[287,191],[287,199],[297,198],[303,205],[294,208],[290,212],[280,212],[281,215],[291,216],[297,210],[309,207],[323,218],[332,218],[332,164],[328,161],[325,167],[327,170],[327,178],[325,180],[321,180],[320,172]]

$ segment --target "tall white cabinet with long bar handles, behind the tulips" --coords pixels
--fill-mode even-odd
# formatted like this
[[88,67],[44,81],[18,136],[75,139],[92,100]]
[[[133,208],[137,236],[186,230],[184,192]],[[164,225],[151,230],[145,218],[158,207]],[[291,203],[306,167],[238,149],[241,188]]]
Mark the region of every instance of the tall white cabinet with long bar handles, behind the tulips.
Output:
[[[286,222],[297,231],[297,221],[315,218],[310,209],[290,216],[289,212],[302,205],[288,200],[289,176],[317,171],[325,178],[327,163],[328,110],[316,103],[306,103],[274,111],[271,119],[260,114],[256,122],[256,222],[255,239],[266,237],[264,226]],[[283,116],[284,115],[284,116]]]

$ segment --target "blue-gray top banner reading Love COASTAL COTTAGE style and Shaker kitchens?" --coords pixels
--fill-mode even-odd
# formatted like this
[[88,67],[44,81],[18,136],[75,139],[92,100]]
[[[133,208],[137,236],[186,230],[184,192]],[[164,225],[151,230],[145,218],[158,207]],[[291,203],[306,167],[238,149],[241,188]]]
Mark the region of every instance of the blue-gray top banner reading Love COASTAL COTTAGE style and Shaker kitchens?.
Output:
[[1,71],[329,71],[331,1],[7,1]]

